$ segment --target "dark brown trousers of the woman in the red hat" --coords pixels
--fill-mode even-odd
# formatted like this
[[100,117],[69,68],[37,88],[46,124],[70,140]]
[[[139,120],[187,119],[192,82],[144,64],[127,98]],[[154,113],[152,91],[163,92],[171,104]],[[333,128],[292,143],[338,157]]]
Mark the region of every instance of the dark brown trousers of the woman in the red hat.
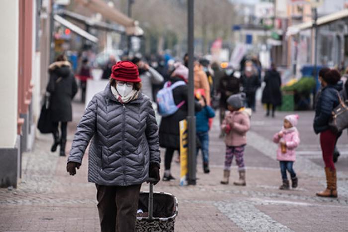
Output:
[[134,232],[141,185],[96,185],[101,232]]

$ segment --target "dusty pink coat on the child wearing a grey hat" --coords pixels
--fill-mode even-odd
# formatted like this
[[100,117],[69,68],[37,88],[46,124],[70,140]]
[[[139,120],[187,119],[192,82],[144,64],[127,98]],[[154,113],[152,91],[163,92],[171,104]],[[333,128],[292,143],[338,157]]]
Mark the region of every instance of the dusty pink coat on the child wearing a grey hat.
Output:
[[227,112],[221,128],[225,130],[227,146],[241,146],[247,144],[247,132],[250,128],[250,119],[245,110]]

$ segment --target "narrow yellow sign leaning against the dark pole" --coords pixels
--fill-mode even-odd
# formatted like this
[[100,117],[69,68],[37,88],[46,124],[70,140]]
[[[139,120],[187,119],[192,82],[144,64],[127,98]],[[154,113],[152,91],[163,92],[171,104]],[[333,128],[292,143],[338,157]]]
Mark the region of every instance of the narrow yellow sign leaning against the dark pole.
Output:
[[187,185],[187,146],[188,146],[188,130],[187,120],[179,122],[180,130],[180,186]]

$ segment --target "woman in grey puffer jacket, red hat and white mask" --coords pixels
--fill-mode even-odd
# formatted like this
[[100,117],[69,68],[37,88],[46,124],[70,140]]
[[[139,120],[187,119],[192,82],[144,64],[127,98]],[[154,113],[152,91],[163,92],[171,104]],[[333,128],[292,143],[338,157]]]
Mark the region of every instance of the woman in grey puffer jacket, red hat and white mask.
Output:
[[160,180],[158,126],[140,81],[133,63],[112,67],[110,84],[89,102],[68,158],[67,171],[75,175],[92,140],[88,182],[96,184],[102,232],[134,231],[141,184]]

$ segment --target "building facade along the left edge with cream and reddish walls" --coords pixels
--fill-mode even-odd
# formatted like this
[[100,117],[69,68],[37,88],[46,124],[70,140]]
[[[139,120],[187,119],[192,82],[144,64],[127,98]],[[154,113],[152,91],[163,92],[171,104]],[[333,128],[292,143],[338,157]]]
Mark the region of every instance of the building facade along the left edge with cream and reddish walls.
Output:
[[[2,0],[0,187],[16,187],[47,83],[50,0]],[[41,40],[40,40],[41,39]]]

